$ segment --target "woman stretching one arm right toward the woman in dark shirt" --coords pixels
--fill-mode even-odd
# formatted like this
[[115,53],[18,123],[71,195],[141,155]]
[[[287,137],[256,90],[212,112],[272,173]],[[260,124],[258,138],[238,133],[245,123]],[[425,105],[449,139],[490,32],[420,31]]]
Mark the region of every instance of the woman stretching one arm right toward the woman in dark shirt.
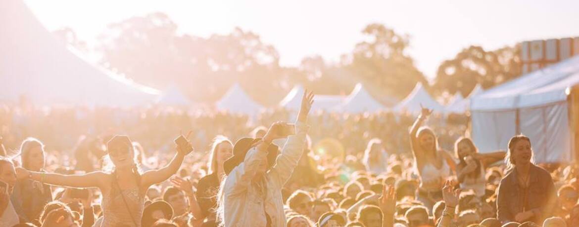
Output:
[[481,154],[472,140],[460,137],[455,143],[455,155],[459,159],[456,165],[457,178],[463,191],[472,190],[479,198],[485,196],[486,167],[505,157],[504,151]]

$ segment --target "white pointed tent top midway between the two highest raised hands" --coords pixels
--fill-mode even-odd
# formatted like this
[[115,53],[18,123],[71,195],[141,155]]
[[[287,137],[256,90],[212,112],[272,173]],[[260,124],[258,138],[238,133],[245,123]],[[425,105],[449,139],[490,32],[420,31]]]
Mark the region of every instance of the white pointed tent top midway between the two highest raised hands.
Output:
[[350,95],[344,99],[344,102],[334,107],[334,110],[342,111],[343,113],[362,113],[386,110],[386,107],[376,101],[376,99],[364,89],[364,86],[358,83]]

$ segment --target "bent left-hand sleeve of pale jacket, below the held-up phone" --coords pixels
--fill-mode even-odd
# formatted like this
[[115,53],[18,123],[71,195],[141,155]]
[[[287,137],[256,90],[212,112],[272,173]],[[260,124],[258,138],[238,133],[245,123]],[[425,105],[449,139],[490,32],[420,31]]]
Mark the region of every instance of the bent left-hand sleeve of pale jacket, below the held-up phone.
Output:
[[247,152],[247,155],[250,155],[250,157],[247,157],[246,161],[241,162],[236,168],[233,168],[229,176],[225,179],[224,190],[226,196],[235,196],[247,191],[259,167],[259,163],[266,158],[266,151],[257,150],[256,147],[252,149],[255,150]]

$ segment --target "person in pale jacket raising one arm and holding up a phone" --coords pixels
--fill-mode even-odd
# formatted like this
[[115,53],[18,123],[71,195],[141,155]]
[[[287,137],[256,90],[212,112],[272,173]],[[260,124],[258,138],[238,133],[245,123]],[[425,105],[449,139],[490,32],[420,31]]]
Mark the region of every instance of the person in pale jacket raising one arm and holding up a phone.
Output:
[[312,92],[305,91],[295,124],[281,155],[272,144],[287,137],[274,123],[263,139],[242,138],[233,146],[233,157],[223,163],[226,178],[218,193],[217,216],[222,226],[286,226],[281,188],[290,178],[305,146],[307,114],[313,103]]

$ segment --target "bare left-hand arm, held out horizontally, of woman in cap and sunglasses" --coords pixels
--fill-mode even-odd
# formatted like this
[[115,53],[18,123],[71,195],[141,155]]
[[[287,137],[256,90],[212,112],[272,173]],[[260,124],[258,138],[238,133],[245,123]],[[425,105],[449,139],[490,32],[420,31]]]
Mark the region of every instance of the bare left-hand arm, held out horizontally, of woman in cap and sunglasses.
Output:
[[63,175],[58,173],[41,173],[24,168],[16,169],[16,176],[22,180],[30,178],[46,184],[73,188],[101,187],[108,174],[97,171],[86,174]]

